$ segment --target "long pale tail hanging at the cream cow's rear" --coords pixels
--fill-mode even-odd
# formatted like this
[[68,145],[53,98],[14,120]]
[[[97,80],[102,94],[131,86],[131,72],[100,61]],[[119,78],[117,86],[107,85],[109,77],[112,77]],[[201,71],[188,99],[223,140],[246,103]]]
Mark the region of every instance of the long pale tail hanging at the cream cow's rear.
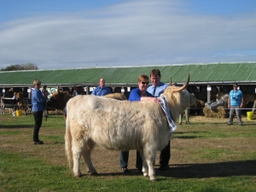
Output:
[[73,166],[72,136],[70,131],[70,122],[68,118],[66,119],[65,152],[67,157],[67,164],[69,167],[72,167]]

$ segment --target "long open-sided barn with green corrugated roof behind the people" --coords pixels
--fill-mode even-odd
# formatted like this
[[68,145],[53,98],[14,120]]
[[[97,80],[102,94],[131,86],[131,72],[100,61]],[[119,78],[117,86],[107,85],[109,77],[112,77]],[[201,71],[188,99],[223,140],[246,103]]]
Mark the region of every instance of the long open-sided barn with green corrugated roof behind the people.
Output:
[[140,74],[149,75],[153,68],[159,68],[161,81],[177,82],[181,85],[190,75],[188,90],[197,99],[207,102],[217,98],[218,92],[227,93],[232,84],[237,83],[244,94],[255,94],[256,62],[241,63],[209,63],[143,67],[90,67],[36,71],[0,72],[1,96],[12,96],[13,92],[24,92],[29,97],[33,79],[40,79],[42,85],[72,91],[76,85],[79,94],[90,94],[101,78],[113,92],[123,92],[129,96],[130,91],[137,87]]

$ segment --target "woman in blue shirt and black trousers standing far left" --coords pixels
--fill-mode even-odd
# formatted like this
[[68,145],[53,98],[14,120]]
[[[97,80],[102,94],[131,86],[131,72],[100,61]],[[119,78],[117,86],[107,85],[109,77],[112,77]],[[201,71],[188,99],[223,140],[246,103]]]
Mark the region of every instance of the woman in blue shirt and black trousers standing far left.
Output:
[[32,114],[34,116],[35,125],[33,132],[33,144],[44,144],[43,141],[39,140],[39,130],[42,125],[43,111],[45,107],[46,95],[43,96],[42,92],[39,90],[41,86],[41,81],[35,79],[33,81],[34,90],[32,92]]

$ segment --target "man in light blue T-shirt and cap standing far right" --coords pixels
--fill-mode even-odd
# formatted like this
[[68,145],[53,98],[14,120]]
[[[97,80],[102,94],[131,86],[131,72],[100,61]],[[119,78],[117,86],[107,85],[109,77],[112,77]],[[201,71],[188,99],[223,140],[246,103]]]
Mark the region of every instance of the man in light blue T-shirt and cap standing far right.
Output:
[[228,100],[228,108],[230,108],[230,119],[229,119],[228,125],[233,124],[234,110],[236,111],[238,124],[242,125],[241,108],[242,108],[242,102],[243,102],[243,95],[241,90],[237,90],[237,84],[233,84],[233,88],[234,90],[230,91],[230,96]]

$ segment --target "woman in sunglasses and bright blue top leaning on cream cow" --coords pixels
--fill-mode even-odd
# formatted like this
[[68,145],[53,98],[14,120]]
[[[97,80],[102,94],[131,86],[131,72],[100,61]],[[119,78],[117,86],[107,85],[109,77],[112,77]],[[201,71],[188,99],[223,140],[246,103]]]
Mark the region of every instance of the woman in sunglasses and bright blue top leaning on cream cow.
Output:
[[[159,103],[156,97],[153,97],[148,91],[148,76],[147,75],[140,75],[138,77],[138,87],[134,90],[131,90],[130,96],[128,101],[152,101]],[[129,151],[121,151],[120,153],[120,166],[122,172],[128,172],[128,159],[129,159]],[[137,162],[136,166],[139,172],[142,172],[143,169],[143,162],[142,157],[140,156],[139,152],[137,151]]]

